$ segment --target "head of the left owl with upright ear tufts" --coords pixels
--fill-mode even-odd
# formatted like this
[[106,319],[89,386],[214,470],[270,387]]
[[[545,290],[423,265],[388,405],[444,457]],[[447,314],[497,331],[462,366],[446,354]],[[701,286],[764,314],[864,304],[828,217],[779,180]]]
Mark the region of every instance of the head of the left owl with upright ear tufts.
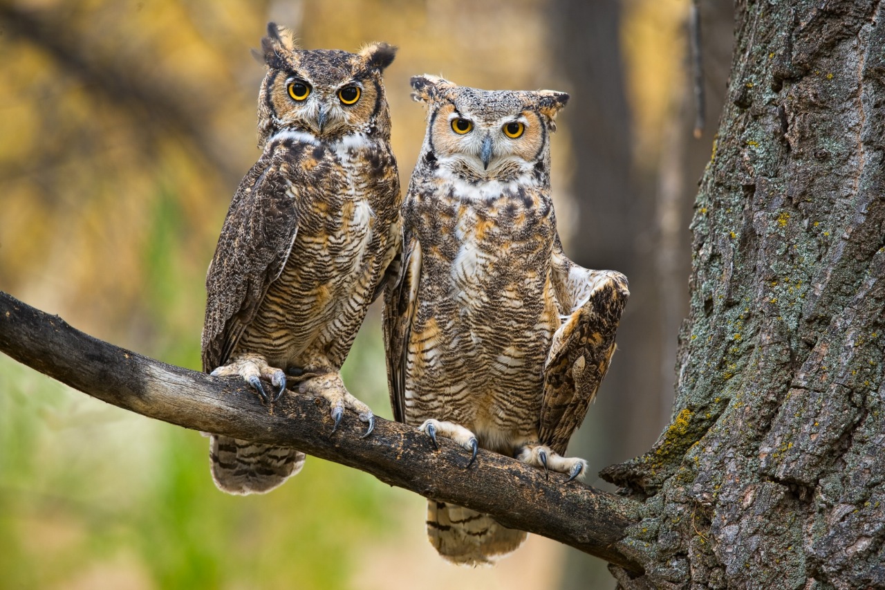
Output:
[[372,43],[358,53],[302,50],[289,29],[272,22],[261,49],[270,70],[258,96],[258,147],[281,130],[325,140],[353,133],[389,138],[381,72],[396,47]]

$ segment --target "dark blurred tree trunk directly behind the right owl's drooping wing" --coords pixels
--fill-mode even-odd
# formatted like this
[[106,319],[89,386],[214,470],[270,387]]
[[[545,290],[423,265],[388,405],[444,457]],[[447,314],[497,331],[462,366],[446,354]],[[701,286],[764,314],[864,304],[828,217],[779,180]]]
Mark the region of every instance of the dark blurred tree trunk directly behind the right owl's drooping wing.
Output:
[[[633,174],[634,126],[620,50],[621,10],[618,0],[550,3],[556,71],[572,95],[559,117],[571,148],[568,187],[573,213],[558,216],[571,230],[566,252],[581,266],[619,270],[627,275],[631,291],[618,330],[621,352],[605,377],[600,400],[569,446],[570,454],[586,456],[593,465],[641,452],[643,438],[630,436],[636,424],[638,431],[659,428],[657,413],[635,411],[655,403],[656,393],[648,372],[635,370],[658,362],[657,342],[643,328],[654,314],[650,306],[654,282],[644,264],[647,257],[638,250],[642,236],[650,237],[653,204]],[[626,362],[624,350],[629,353]],[[632,444],[637,445],[635,450]],[[607,582],[604,563],[588,555],[569,551],[566,566],[564,588]]]

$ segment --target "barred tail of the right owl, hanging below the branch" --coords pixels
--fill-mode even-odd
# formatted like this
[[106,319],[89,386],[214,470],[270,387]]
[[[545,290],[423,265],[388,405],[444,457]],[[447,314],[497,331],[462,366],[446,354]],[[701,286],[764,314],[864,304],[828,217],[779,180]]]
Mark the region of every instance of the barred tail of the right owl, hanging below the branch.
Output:
[[445,502],[427,501],[427,537],[445,559],[458,565],[490,565],[526,540],[494,518]]

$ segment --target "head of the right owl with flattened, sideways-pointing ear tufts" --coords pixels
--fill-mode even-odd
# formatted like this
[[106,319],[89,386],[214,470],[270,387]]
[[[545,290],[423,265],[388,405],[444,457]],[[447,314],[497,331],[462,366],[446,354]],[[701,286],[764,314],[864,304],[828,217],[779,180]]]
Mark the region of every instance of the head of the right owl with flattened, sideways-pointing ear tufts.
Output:
[[568,95],[554,90],[481,90],[442,78],[412,78],[412,98],[427,104],[425,158],[467,181],[546,175],[550,133]]

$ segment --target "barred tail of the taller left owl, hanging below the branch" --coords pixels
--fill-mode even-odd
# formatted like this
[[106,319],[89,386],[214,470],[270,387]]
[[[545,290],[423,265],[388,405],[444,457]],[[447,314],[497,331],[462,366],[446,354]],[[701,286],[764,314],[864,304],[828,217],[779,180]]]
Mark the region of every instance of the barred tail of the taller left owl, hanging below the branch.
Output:
[[213,434],[209,461],[219,490],[245,495],[267,493],[282,485],[304,466],[304,453]]

